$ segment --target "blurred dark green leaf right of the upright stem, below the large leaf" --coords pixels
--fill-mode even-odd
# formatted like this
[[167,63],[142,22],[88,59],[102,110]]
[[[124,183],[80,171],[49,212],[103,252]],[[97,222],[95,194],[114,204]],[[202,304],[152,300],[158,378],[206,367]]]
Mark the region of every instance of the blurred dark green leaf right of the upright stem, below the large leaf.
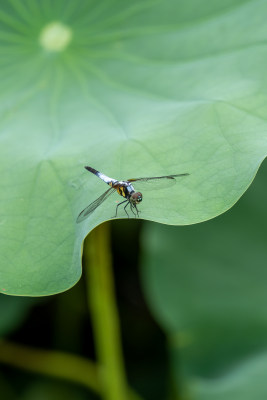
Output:
[[[192,399],[264,398],[266,176],[238,205],[189,227],[147,224],[143,282],[169,336],[178,390]],[[182,383],[183,382],[183,383]]]

